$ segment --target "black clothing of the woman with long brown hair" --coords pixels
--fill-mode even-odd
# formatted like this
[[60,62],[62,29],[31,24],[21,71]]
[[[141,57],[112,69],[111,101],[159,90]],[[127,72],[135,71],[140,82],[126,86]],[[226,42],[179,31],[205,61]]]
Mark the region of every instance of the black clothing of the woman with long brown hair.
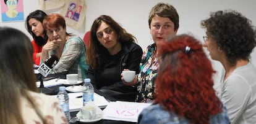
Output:
[[[111,90],[122,93],[123,95],[134,95],[127,98],[127,101],[133,101],[137,90],[135,87],[124,85],[121,80],[121,73],[124,69],[140,72],[140,61],[142,59],[142,48],[134,42],[122,44],[122,49],[116,55],[106,53],[104,65],[97,70],[91,67],[88,69],[87,77],[92,80],[93,86],[98,90]],[[110,94],[111,95],[111,94]],[[126,95],[126,96],[127,96]],[[126,97],[125,96],[125,97]],[[117,100],[124,100],[123,96],[113,96]]]

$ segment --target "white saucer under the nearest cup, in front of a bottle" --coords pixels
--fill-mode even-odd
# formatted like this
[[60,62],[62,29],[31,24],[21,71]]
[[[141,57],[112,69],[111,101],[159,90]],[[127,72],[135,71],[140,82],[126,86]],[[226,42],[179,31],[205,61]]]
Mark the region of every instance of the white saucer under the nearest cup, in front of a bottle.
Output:
[[83,117],[81,115],[81,111],[79,111],[77,113],[77,117],[79,118],[79,122],[94,123],[94,122],[98,122],[99,120],[101,120],[103,118],[103,111],[100,109],[100,107],[96,107],[96,116],[95,116],[95,118],[93,118],[91,120],[83,119]]

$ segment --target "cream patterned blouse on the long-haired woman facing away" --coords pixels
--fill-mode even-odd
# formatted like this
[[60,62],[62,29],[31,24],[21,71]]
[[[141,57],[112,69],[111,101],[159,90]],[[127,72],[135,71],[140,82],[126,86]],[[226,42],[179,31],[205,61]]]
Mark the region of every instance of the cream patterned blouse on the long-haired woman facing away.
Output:
[[[36,106],[40,110],[43,118],[46,119],[48,124],[66,124],[67,119],[64,112],[59,105],[58,99],[53,96],[48,96],[43,93],[35,93],[30,91],[30,96],[32,96],[33,101],[35,101]],[[35,109],[31,106],[27,99],[21,98],[21,110],[22,117],[25,123],[43,123],[41,118],[36,114]]]

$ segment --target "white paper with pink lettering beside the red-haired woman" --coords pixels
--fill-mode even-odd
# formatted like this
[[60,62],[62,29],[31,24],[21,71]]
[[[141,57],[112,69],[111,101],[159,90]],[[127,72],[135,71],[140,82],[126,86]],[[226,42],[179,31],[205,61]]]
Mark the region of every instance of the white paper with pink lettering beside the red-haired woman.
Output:
[[103,110],[103,119],[122,120],[126,122],[137,122],[140,112],[151,103],[135,103],[116,101],[110,102]]

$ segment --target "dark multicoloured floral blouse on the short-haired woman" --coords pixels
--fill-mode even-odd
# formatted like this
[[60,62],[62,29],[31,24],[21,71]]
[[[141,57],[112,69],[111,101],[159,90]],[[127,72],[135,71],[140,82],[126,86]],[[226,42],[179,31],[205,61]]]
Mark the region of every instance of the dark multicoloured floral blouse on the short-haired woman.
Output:
[[137,84],[137,102],[148,103],[153,100],[153,92],[155,78],[158,71],[158,58],[156,54],[156,44],[148,45],[147,49],[143,52],[142,61],[140,63],[140,74],[138,75]]

